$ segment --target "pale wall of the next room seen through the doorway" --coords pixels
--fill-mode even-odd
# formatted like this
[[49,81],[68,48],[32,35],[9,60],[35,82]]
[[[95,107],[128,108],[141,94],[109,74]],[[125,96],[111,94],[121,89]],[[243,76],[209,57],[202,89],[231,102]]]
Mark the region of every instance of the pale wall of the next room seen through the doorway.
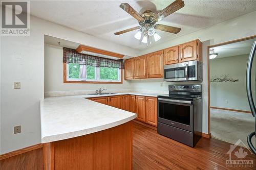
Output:
[[[248,56],[249,54],[210,60],[210,78],[225,74],[239,79],[238,82],[210,82],[210,106],[250,111],[245,82]],[[254,79],[255,62],[251,73]],[[255,81],[251,83],[255,96]]]

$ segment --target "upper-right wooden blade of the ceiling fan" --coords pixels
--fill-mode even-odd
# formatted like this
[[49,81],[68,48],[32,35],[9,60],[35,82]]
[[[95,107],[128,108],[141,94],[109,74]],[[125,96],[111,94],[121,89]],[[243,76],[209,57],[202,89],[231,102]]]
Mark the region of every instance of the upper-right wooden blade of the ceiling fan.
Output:
[[158,14],[156,14],[152,19],[154,21],[162,20],[166,16],[174,13],[175,11],[178,11],[182,7],[184,7],[184,2],[181,0],[176,0],[175,2],[164,8],[162,11],[160,11]]

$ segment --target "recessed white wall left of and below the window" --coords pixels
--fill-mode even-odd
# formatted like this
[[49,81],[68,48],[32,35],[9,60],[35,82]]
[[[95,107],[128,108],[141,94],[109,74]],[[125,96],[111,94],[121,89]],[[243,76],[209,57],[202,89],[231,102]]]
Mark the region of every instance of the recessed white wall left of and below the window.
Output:
[[123,81],[123,84],[63,83],[62,59],[62,47],[45,44],[45,92],[96,90],[99,88],[106,88],[108,90],[121,90],[130,88],[130,82],[128,81]]

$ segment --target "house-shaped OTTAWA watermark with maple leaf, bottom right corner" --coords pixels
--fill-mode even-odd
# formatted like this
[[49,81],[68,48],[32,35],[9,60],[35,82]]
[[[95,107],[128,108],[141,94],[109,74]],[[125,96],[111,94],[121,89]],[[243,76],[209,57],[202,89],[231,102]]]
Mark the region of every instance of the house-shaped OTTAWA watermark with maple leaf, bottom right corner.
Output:
[[[239,144],[243,145],[243,148]],[[241,139],[230,145],[227,154],[229,154],[229,160],[226,160],[227,167],[253,167],[253,160],[246,157],[253,155],[253,153]]]

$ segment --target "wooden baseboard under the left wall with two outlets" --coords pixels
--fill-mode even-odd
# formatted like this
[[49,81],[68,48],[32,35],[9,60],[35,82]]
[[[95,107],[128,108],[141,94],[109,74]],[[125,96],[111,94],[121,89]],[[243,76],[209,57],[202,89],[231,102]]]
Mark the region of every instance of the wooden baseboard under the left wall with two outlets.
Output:
[[44,144],[39,143],[39,144],[32,145],[30,147],[26,147],[26,148],[19,149],[19,150],[16,150],[16,151],[8,152],[6,154],[0,155],[0,160],[7,159],[7,158],[10,158],[10,157],[13,157],[13,156],[16,156],[16,155],[24,154],[26,152],[33,151],[33,150],[36,150],[38,148],[44,148]]

